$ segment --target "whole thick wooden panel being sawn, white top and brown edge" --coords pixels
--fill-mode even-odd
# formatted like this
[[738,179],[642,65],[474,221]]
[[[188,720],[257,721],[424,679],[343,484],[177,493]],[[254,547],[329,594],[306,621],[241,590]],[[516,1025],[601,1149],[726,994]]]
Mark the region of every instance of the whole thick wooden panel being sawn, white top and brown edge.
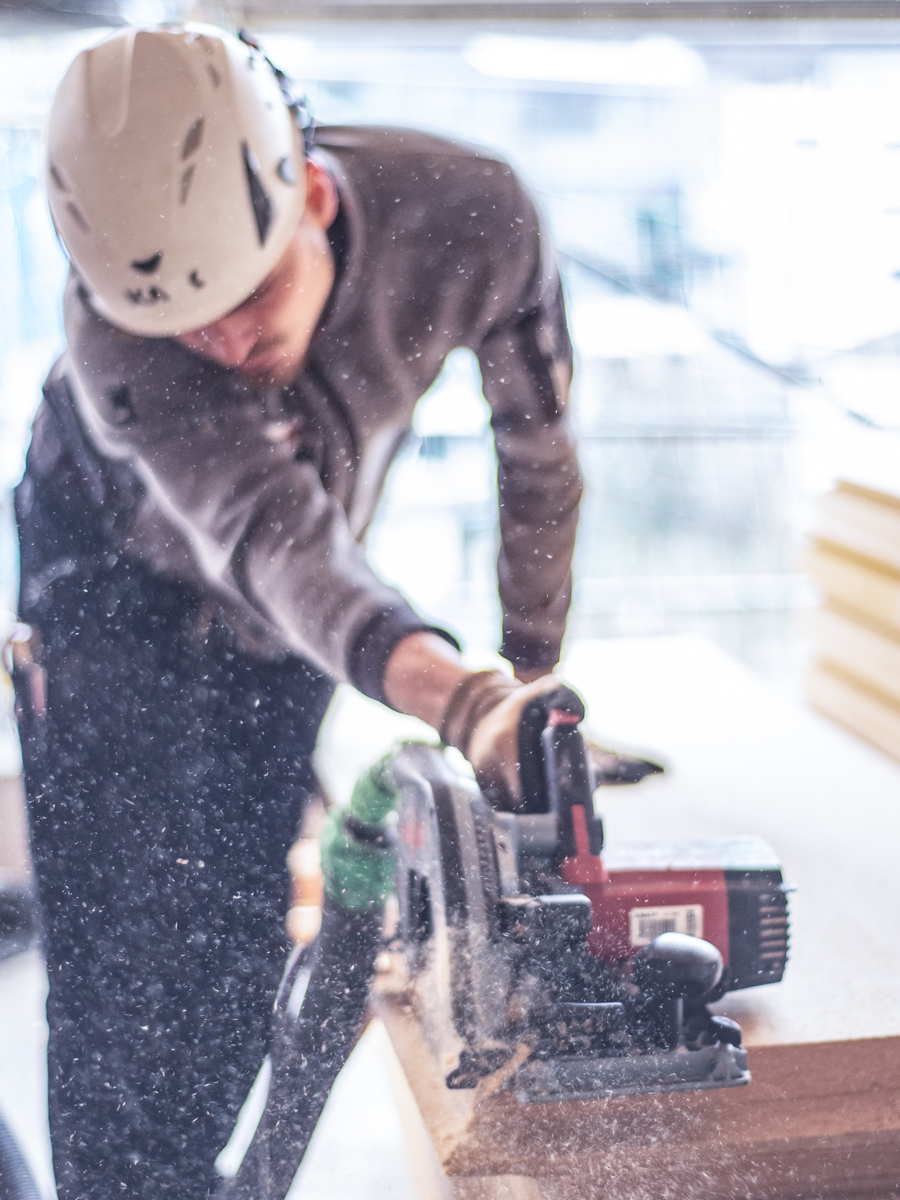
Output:
[[667,766],[599,793],[610,847],[764,838],[797,884],[787,972],[715,1006],[744,1030],[749,1087],[545,1104],[497,1080],[449,1092],[388,988],[379,1013],[443,1172],[428,1194],[900,1195],[900,767],[700,637],[576,642],[560,674],[601,744]]

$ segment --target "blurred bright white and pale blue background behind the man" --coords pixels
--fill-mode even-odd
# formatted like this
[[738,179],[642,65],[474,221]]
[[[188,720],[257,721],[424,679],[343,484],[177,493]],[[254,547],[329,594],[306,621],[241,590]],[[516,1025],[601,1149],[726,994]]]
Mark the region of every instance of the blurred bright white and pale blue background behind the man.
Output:
[[[320,122],[488,145],[544,208],[587,479],[572,636],[704,632],[793,680],[797,614],[814,600],[799,554],[810,498],[844,473],[900,486],[900,29],[256,28]],[[61,346],[40,131],[66,64],[101,32],[22,16],[0,26],[0,493]],[[476,654],[499,629],[492,476],[461,352],[419,409],[370,550]]]

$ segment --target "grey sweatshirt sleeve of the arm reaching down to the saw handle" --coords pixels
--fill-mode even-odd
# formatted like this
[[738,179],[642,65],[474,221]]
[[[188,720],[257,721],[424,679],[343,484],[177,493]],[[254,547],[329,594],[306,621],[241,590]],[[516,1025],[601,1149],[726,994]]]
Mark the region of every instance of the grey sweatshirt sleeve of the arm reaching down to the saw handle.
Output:
[[314,466],[266,436],[258,396],[169,340],[113,329],[71,290],[66,334],[91,433],[133,463],[210,584],[384,701],[391,649],[431,626],[371,570]]

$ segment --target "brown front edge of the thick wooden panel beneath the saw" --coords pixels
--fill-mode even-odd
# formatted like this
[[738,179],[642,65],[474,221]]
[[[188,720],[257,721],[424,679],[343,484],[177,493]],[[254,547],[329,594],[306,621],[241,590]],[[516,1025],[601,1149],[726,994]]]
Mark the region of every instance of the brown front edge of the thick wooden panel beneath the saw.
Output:
[[378,1012],[448,1176],[517,1174],[580,1200],[889,1194],[900,1180],[900,1038],[757,1048],[743,1088],[523,1104],[494,1079],[450,1092],[413,1012],[396,997]]

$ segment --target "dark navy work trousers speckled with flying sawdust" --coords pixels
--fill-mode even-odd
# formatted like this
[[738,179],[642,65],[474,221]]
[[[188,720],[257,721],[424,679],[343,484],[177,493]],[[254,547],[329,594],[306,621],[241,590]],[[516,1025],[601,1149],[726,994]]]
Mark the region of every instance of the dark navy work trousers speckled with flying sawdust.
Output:
[[46,925],[60,1200],[200,1200],[268,1048],[286,852],[334,684],[239,650],[191,589],[136,564],[24,614],[19,688]]

